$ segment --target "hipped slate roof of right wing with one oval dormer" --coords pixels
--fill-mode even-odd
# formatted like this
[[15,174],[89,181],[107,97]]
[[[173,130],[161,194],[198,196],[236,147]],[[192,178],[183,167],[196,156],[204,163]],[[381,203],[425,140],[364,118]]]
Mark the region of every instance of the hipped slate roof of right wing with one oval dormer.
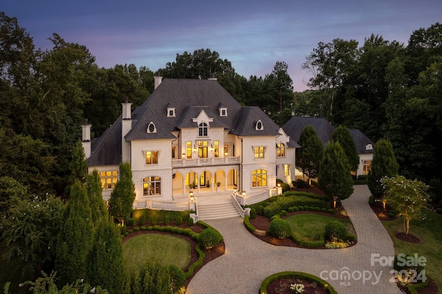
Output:
[[[263,129],[256,130],[256,123],[261,120]],[[279,136],[278,125],[273,122],[258,106],[244,106],[241,109],[235,129],[236,136]]]

